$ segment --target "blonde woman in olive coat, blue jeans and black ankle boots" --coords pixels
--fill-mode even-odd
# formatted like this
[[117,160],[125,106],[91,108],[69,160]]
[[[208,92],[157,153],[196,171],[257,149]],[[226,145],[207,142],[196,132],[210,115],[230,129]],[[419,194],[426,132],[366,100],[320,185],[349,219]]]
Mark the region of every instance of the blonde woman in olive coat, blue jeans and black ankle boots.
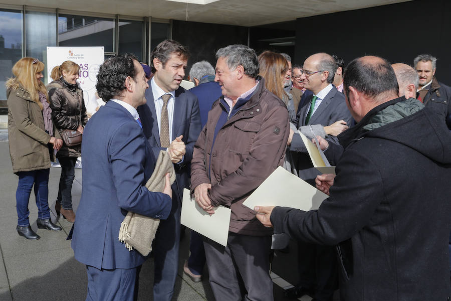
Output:
[[23,58],[13,66],[7,83],[8,135],[13,172],[19,176],[16,191],[17,232],[27,239],[39,239],[30,227],[28,203],[34,185],[38,206],[38,228],[60,231],[50,219],[49,174],[55,150],[63,144],[54,128],[47,91],[41,79],[44,63]]

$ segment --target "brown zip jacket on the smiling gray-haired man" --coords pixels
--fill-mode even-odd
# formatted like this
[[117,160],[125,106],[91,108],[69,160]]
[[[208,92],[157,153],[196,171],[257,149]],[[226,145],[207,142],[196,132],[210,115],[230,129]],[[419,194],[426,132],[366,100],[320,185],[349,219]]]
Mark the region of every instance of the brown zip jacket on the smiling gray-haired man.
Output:
[[264,227],[243,202],[283,163],[289,125],[285,104],[265,88],[263,78],[258,80],[253,96],[225,122],[212,149],[214,129],[225,110],[222,97],[213,104],[194,146],[191,192],[210,183],[212,205],[232,210],[230,232],[264,236],[271,235],[272,229]]

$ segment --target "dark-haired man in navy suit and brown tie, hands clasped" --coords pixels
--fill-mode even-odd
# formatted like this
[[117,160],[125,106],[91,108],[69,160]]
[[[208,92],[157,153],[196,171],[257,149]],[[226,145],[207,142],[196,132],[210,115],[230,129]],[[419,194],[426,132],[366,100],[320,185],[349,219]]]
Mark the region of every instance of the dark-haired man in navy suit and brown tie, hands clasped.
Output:
[[166,150],[174,163],[172,209],[160,222],[153,244],[155,277],[153,298],[170,300],[178,268],[180,211],[183,188],[189,187],[189,163],[200,133],[197,98],[179,87],[185,76],[188,51],[178,42],[166,40],[152,51],[154,76],[146,91],[147,104],[138,107],[142,128],[153,153]]

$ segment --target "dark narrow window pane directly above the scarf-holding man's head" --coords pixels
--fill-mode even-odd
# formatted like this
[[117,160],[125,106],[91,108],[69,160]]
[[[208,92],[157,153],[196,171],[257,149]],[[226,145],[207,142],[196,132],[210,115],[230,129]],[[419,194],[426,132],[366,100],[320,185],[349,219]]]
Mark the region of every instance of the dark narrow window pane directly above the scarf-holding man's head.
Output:
[[142,61],[142,21],[119,21],[119,54],[133,53]]

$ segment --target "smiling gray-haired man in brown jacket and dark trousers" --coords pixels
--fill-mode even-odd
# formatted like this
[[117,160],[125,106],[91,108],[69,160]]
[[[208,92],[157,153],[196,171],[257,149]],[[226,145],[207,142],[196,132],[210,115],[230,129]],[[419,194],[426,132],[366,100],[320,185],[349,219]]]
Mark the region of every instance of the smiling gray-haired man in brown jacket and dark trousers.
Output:
[[232,210],[227,247],[204,241],[210,285],[218,300],[272,301],[272,230],[243,202],[283,163],[288,111],[257,76],[254,50],[230,45],[216,58],[215,81],[223,96],[208,114],[191,161],[191,190],[199,206],[209,214],[219,205]]

